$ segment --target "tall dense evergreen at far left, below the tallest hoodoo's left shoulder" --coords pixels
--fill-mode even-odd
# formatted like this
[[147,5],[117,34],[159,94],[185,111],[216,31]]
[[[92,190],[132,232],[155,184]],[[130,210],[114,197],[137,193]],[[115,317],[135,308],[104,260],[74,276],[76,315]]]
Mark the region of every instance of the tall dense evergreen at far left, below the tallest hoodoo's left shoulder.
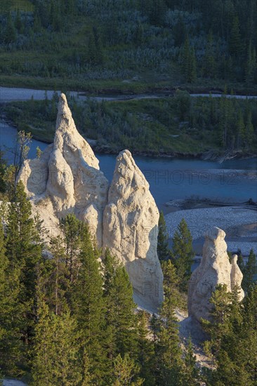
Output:
[[18,301],[22,307],[22,342],[25,343],[24,361],[29,354],[29,342],[36,319],[36,285],[42,244],[32,219],[31,204],[22,182],[18,182],[8,208],[6,227],[6,255],[14,285],[18,288]]

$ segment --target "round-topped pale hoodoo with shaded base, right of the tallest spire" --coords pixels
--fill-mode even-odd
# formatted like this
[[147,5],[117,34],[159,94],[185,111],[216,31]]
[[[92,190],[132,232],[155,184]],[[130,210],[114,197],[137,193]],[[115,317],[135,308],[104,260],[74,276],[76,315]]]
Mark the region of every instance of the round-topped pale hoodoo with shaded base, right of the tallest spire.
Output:
[[117,157],[103,217],[103,246],[126,266],[136,302],[159,306],[162,269],[157,256],[159,211],[129,150]]

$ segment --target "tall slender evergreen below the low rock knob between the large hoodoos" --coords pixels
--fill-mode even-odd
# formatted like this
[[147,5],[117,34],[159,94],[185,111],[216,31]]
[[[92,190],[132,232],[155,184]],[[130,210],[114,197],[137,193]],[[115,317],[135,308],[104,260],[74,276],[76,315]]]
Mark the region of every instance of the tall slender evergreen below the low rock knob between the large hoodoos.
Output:
[[103,278],[100,273],[98,253],[92,245],[88,227],[81,235],[79,270],[72,285],[72,314],[81,330],[81,348],[88,352],[90,373],[98,384],[105,372],[105,347],[103,342],[105,321],[103,314]]

